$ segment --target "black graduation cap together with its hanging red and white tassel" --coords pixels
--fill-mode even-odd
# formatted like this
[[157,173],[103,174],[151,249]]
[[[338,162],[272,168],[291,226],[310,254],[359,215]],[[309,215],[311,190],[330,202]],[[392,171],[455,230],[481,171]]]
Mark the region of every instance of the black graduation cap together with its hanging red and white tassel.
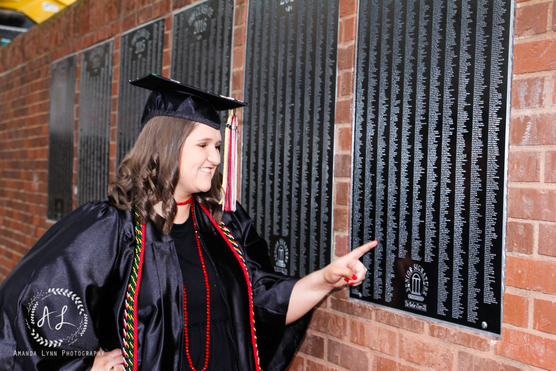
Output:
[[[187,119],[220,129],[220,116],[216,111],[230,110],[247,104],[233,98],[198,89],[156,74],[148,74],[130,84],[152,90],[141,117],[141,130],[155,116]],[[226,125],[224,139],[224,174],[222,208],[235,211],[237,197],[237,117],[232,113]]]

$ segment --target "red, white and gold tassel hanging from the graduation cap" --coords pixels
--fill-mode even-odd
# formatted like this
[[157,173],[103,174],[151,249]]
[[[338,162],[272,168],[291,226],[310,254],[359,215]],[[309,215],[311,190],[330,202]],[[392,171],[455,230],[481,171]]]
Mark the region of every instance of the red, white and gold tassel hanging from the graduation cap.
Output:
[[224,135],[224,172],[222,174],[222,209],[236,211],[237,199],[237,116],[232,113]]

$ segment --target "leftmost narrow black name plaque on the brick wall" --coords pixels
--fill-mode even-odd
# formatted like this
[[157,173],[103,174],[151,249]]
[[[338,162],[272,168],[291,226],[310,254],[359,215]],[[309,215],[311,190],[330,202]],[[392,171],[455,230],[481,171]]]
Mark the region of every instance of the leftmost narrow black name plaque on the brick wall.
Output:
[[48,219],[58,220],[72,209],[73,124],[77,55],[51,67],[48,120]]

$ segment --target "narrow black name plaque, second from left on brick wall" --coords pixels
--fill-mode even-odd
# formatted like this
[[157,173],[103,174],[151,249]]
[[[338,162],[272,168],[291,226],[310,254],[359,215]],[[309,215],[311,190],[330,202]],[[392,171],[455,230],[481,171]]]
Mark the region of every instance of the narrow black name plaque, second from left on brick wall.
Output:
[[77,205],[103,199],[108,187],[112,50],[108,41],[81,54]]

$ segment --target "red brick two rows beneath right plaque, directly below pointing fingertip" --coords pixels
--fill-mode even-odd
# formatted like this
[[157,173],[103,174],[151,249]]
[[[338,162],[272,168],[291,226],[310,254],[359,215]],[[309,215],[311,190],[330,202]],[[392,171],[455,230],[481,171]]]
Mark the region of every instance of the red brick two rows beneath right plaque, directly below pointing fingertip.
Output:
[[350,321],[350,341],[389,355],[398,354],[396,331],[357,320]]

